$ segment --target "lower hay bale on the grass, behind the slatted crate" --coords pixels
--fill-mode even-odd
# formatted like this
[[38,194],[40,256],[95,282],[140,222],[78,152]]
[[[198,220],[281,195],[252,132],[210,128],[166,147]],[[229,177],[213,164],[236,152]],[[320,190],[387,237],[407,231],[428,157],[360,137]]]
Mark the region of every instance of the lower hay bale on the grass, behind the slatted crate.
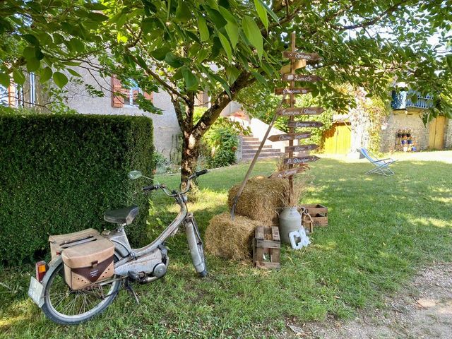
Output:
[[256,226],[262,226],[262,222],[241,215],[236,215],[231,220],[228,212],[215,215],[206,229],[206,251],[214,256],[234,260],[249,258]]

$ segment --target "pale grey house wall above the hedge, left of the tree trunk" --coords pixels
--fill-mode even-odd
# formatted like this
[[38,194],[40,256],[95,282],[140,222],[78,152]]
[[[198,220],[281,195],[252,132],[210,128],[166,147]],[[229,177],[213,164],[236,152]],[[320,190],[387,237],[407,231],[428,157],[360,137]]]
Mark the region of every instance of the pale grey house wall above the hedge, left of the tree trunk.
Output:
[[110,92],[110,78],[96,79],[88,74],[85,69],[77,68],[76,71],[81,74],[83,81],[93,85],[96,89],[102,90],[104,97],[91,97],[86,93],[81,85],[68,85],[69,107],[76,109],[81,114],[121,114],[121,115],[144,115],[153,119],[154,126],[154,145],[155,150],[165,155],[165,157],[174,157],[181,133],[174,107],[166,92],[153,93],[153,103],[155,107],[162,109],[163,114],[151,114],[144,112],[136,106],[124,105],[124,107],[112,107],[112,93]]

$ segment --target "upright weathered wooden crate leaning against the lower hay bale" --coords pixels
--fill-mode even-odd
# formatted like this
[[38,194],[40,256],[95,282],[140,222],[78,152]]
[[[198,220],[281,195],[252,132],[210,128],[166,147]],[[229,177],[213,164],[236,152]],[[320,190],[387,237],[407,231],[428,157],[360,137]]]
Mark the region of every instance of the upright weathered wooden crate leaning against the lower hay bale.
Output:
[[[253,265],[257,268],[279,269],[280,248],[281,241],[278,227],[256,227],[253,239]],[[269,256],[269,261],[266,261],[265,255]]]

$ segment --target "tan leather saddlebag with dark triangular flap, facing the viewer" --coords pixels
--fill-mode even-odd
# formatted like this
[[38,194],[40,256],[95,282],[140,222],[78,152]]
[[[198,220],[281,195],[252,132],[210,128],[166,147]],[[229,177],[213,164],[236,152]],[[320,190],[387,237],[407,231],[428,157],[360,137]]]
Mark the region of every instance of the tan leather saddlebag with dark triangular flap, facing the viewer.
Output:
[[114,274],[114,244],[102,236],[63,249],[64,279],[72,290],[80,290]]

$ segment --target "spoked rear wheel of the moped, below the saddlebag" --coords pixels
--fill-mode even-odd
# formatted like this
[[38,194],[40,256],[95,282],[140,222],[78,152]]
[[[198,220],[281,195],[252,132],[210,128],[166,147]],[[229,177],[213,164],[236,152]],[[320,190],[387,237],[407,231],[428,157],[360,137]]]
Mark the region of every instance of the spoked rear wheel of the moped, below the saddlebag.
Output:
[[76,325],[104,311],[117,296],[120,286],[121,281],[114,280],[84,290],[71,290],[64,281],[64,265],[61,262],[45,287],[42,311],[56,323]]

